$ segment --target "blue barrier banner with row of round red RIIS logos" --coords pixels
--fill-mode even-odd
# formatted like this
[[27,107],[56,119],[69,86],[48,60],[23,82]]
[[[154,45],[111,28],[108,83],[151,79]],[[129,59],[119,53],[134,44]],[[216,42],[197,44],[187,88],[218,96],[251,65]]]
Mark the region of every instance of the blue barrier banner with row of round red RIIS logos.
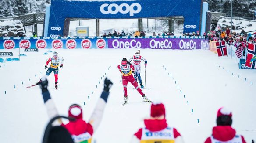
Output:
[[62,38],[50,38],[50,37],[26,37],[26,38],[3,38],[0,39],[0,49],[90,49],[107,48],[107,40],[97,37],[62,37]]

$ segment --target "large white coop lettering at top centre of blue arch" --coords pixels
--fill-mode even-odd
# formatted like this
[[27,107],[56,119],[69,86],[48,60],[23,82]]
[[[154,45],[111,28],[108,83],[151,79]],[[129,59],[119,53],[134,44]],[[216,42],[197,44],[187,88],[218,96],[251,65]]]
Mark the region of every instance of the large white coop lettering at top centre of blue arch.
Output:
[[[114,7],[114,10],[113,10],[113,7]],[[127,3],[122,3],[120,5],[116,3],[112,3],[112,4],[104,3],[100,6],[100,12],[103,14],[117,14],[118,12],[120,12],[121,14],[129,13],[130,17],[134,16],[134,14],[138,14],[141,11],[141,9],[142,8],[139,3],[132,3],[131,5]]]

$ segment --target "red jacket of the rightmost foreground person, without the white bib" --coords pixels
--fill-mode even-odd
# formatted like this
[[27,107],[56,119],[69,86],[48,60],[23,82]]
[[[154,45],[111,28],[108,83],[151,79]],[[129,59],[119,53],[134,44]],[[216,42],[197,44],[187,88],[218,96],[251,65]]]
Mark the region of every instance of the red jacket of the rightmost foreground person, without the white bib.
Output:
[[[215,126],[213,127],[213,137],[220,141],[228,141],[235,137],[235,129],[231,126]],[[246,143],[243,136],[242,143]],[[204,143],[212,143],[211,138],[208,137]]]

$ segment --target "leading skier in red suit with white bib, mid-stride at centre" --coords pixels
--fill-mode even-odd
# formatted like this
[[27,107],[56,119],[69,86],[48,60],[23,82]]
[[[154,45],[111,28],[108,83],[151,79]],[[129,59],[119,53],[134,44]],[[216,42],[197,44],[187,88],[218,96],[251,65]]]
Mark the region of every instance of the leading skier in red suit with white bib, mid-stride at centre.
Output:
[[128,95],[127,95],[127,84],[128,82],[131,82],[131,84],[134,86],[135,89],[139,92],[140,95],[142,95],[143,99],[147,102],[150,102],[149,99],[145,96],[145,94],[142,92],[142,90],[139,88],[138,83],[135,81],[132,73],[135,72],[134,66],[127,61],[126,58],[123,58],[122,64],[118,65],[117,68],[121,72],[123,86],[124,86],[124,102],[128,102]]

